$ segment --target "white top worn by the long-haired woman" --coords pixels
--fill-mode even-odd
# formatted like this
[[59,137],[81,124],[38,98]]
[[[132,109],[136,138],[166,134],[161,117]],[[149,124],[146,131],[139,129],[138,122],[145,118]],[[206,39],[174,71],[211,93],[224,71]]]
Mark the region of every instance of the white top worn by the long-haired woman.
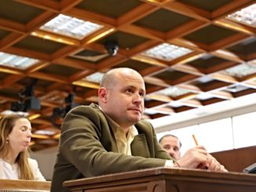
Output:
[[[35,176],[35,180],[45,181],[38,168],[38,162],[34,159],[28,158],[28,164],[31,167],[31,171]],[[0,179],[19,179],[19,165],[17,163],[10,165],[0,158]]]

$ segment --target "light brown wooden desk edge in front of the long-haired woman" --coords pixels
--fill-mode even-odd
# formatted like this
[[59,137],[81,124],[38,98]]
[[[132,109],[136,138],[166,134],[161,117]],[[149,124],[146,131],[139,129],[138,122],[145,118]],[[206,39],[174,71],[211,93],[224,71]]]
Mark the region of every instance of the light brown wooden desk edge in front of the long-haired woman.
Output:
[[0,179],[0,192],[48,192],[50,184],[49,181]]

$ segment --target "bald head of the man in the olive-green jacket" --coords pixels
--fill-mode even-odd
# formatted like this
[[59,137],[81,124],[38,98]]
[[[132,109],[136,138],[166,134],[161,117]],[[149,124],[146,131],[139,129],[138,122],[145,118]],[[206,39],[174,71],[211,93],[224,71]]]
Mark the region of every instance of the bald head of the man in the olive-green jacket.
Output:
[[130,68],[115,68],[104,74],[98,90],[98,102],[105,114],[128,129],[144,113],[144,79]]

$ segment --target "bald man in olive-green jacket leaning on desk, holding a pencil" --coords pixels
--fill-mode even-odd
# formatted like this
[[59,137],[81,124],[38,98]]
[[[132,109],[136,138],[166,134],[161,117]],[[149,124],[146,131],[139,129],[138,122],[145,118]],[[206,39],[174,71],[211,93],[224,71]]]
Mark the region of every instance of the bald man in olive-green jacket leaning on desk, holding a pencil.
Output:
[[61,127],[51,191],[68,192],[64,181],[142,168],[207,165],[224,171],[204,147],[195,147],[174,161],[159,146],[154,129],[141,120],[144,113],[144,79],[130,68],[104,74],[98,103],[73,108]]

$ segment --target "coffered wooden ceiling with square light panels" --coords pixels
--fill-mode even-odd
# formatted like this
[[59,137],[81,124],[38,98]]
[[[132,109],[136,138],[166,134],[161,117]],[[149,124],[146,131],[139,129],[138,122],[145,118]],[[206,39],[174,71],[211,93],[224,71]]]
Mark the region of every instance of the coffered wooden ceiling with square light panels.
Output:
[[254,93],[254,2],[1,0],[0,110],[26,110],[41,150],[57,145],[68,107],[97,103],[111,68],[143,75],[144,118]]

